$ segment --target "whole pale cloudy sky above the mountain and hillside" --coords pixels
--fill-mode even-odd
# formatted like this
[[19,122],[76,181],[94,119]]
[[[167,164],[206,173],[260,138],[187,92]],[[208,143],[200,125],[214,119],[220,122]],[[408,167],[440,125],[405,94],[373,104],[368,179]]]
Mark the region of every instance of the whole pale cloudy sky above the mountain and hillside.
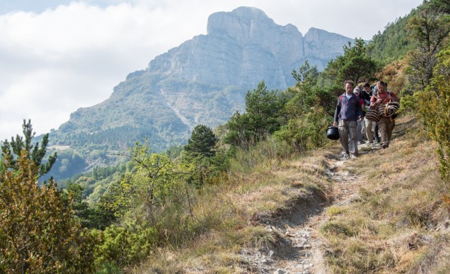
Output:
[[128,73],[206,34],[208,16],[256,7],[292,23],[370,40],[422,0],[1,0],[0,140],[37,134],[100,103]]

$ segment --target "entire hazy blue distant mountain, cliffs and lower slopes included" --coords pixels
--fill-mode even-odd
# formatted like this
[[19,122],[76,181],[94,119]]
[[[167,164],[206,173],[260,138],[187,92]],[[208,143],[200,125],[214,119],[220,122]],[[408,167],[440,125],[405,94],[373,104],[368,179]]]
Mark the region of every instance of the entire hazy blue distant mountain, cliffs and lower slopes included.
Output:
[[[195,125],[215,127],[244,110],[246,91],[262,80],[270,89],[293,86],[293,69],[309,60],[322,70],[349,41],[313,28],[303,36],[257,8],[211,14],[206,35],[130,73],[108,100],[73,112],[51,132],[51,141],[86,159],[93,151],[123,150],[144,138],[157,151],[182,144]],[[112,160],[91,156],[86,167]]]

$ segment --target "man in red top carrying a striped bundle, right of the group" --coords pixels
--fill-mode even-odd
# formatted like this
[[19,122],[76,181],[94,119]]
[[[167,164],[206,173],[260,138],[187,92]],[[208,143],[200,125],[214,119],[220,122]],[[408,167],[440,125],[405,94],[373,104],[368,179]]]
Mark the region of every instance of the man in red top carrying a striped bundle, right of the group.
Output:
[[[400,99],[394,92],[388,92],[386,90],[386,84],[383,81],[377,82],[378,93],[377,95],[372,95],[370,99],[370,108],[377,108],[380,104],[386,104],[389,101],[399,102]],[[379,134],[381,137],[381,147],[386,149],[389,147],[389,141],[392,136],[392,129],[394,129],[395,121],[392,117],[387,117],[381,115],[378,121]]]

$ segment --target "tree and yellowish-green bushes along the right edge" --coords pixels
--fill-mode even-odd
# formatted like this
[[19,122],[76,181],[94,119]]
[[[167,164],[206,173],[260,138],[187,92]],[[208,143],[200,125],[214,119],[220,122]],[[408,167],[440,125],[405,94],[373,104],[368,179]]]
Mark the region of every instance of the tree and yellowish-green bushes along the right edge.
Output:
[[[427,132],[437,142],[440,173],[450,179],[449,34],[450,3],[430,1],[409,23],[418,45],[410,54],[410,86]],[[447,197],[447,196],[446,196]]]

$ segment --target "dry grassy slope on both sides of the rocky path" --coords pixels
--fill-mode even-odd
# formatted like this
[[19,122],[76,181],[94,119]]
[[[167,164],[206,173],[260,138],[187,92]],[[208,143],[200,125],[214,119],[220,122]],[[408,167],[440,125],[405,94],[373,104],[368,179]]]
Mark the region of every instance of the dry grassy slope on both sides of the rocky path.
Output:
[[[389,149],[363,153],[346,170],[364,184],[357,199],[329,210],[321,228],[327,267],[334,273],[447,273],[450,269],[449,192],[438,175],[434,145],[411,117],[398,120]],[[267,224],[298,201],[322,206],[338,185],[327,176],[336,142],[294,160],[274,160],[267,143],[242,154],[233,172],[193,205],[204,227],[193,241],[158,249],[130,273],[258,273],[243,250],[265,250],[280,240]],[[226,182],[226,183],[224,183]],[[339,187],[339,186],[337,186]],[[310,208],[305,208],[310,210]]]

